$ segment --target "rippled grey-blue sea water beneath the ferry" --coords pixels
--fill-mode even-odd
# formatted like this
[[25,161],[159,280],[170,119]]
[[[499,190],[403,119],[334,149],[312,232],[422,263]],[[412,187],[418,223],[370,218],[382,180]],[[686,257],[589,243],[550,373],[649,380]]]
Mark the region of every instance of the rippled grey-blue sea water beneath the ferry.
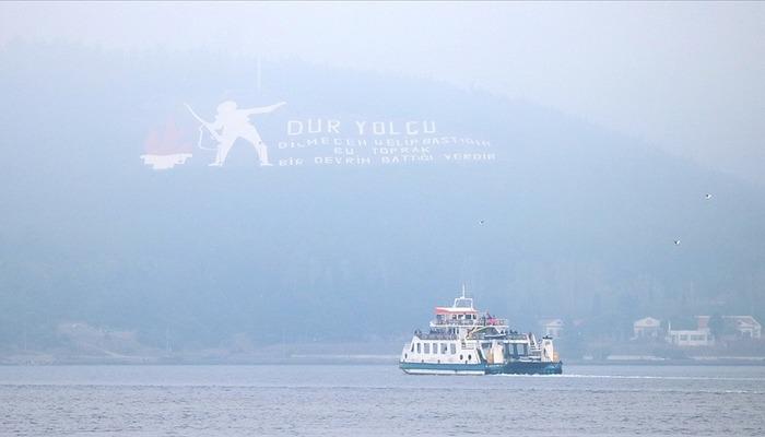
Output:
[[1,436],[762,436],[765,366],[0,367]]

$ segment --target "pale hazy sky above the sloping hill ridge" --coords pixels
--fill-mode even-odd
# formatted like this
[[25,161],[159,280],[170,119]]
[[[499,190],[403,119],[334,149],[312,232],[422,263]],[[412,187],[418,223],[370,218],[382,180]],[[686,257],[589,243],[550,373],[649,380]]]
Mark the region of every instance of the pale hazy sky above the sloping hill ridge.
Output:
[[765,185],[764,23],[757,2],[2,3],[0,44],[208,48],[433,78]]

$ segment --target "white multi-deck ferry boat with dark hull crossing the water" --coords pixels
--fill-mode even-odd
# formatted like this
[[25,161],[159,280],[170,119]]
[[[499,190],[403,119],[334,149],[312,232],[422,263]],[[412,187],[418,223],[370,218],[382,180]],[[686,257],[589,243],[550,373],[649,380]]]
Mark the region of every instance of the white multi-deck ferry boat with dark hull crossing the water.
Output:
[[506,319],[481,315],[462,295],[436,307],[428,332],[414,331],[399,367],[415,375],[560,375],[563,362],[550,336],[510,330]]

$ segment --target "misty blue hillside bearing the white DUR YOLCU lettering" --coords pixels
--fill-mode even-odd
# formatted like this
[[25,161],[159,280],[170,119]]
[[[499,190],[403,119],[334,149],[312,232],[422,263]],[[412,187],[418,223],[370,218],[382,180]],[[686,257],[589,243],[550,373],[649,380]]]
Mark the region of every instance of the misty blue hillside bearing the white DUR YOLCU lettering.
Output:
[[[397,338],[462,283],[521,329],[765,318],[765,190],[579,118],[294,59],[14,47],[5,346],[55,343],[64,321],[189,346]],[[286,103],[250,118],[272,166],[243,138],[210,166],[185,104],[212,121],[225,101]]]

